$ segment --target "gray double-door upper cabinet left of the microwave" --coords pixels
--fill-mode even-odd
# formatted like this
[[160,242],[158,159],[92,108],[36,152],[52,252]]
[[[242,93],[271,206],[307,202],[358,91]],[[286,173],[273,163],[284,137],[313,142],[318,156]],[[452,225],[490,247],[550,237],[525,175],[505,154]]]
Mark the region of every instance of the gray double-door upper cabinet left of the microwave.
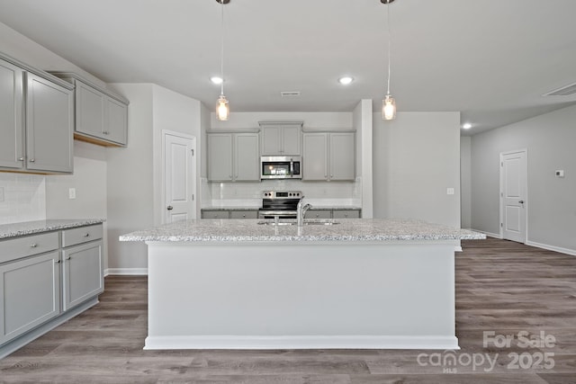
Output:
[[259,182],[260,147],[257,132],[208,135],[208,180]]

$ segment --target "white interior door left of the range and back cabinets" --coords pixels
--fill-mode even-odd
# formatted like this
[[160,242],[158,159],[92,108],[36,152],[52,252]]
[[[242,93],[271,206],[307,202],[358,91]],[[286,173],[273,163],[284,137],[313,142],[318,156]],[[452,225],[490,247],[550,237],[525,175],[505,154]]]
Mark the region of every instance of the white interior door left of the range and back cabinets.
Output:
[[165,223],[196,219],[196,139],[163,131]]

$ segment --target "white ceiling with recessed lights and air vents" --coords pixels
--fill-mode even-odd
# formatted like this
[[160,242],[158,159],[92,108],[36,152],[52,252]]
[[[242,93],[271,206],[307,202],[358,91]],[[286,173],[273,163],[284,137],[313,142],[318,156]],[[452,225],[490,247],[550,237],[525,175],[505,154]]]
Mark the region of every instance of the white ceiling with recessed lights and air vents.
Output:
[[[460,111],[473,134],[576,103],[542,96],[576,83],[574,0],[230,0],[231,111],[380,109],[386,6],[399,112]],[[220,94],[216,0],[0,0],[0,22],[108,83],[155,83],[209,108]]]

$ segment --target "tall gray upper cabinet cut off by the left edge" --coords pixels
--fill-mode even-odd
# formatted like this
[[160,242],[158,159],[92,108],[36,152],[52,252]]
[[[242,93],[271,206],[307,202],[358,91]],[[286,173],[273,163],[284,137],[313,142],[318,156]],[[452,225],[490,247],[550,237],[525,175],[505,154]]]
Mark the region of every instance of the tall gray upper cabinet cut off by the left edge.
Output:
[[73,171],[72,89],[56,77],[0,56],[0,169]]

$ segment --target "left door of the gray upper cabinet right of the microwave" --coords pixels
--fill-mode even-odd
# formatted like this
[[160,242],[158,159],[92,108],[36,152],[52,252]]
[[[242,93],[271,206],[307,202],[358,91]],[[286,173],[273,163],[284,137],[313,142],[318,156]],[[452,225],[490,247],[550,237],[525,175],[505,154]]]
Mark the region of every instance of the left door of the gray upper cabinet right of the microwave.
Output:
[[302,180],[328,180],[328,134],[304,133]]

